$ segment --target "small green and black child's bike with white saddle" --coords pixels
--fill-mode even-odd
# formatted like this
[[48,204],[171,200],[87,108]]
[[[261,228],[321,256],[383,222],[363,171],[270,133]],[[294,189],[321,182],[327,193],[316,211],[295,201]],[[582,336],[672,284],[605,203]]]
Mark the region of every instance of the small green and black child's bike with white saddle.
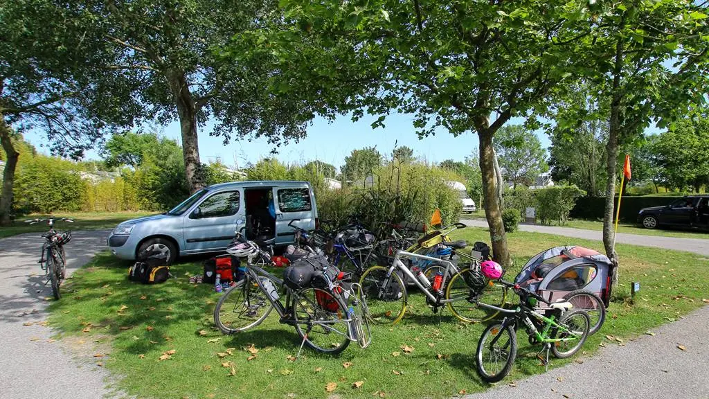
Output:
[[[503,285],[513,288],[520,296],[520,305],[514,310],[491,305],[506,315],[501,322],[490,324],[484,330],[476,349],[476,366],[479,376],[488,383],[501,381],[510,373],[517,356],[517,329],[520,322],[525,327],[530,344],[543,344],[537,358],[549,370],[549,351],[558,359],[566,359],[576,354],[584,345],[591,328],[591,319],[584,310],[571,310],[569,302],[547,302],[543,297],[518,284],[500,280]],[[533,308],[536,301],[545,302],[551,309],[548,317]],[[540,356],[544,351],[547,356]]]

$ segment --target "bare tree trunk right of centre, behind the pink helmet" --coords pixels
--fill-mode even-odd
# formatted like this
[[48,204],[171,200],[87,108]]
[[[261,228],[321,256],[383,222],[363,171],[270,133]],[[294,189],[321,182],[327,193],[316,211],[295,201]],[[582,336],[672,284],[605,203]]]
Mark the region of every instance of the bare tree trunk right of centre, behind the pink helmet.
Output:
[[479,124],[478,137],[480,139],[480,170],[483,175],[483,195],[485,203],[485,217],[490,226],[490,241],[492,242],[493,256],[503,266],[510,266],[510,253],[507,248],[505,226],[502,223],[498,185],[496,185],[495,150],[489,126],[485,122]]

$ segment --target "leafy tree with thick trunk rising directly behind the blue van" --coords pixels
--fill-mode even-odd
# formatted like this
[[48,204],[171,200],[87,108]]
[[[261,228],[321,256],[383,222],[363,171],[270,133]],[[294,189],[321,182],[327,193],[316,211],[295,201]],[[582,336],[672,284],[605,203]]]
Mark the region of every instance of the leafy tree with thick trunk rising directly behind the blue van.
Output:
[[233,136],[265,136],[279,145],[305,134],[312,113],[303,102],[264,89],[277,73],[258,60],[250,65],[223,62],[218,50],[234,33],[281,21],[277,1],[257,0],[81,0],[74,3],[94,18],[120,62],[106,70],[133,82],[125,91],[136,102],[125,112],[164,124],[179,121],[186,182],[191,192],[204,185],[199,129],[225,143]]

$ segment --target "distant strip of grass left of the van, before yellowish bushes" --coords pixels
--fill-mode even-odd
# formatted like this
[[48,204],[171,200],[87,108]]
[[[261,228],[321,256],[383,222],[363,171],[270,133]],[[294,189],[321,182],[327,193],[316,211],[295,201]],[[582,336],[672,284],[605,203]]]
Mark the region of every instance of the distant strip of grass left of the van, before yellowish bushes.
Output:
[[[147,214],[155,214],[156,212],[57,212],[55,217],[70,217],[74,219],[74,223],[57,222],[55,227],[57,230],[96,230],[96,229],[113,229],[117,224],[128,219],[145,216]],[[40,222],[36,224],[25,223],[29,219],[43,219],[47,217],[44,214],[29,214],[16,220],[10,226],[0,227],[0,239],[16,236],[23,233],[34,233],[38,231],[46,231],[47,223]]]

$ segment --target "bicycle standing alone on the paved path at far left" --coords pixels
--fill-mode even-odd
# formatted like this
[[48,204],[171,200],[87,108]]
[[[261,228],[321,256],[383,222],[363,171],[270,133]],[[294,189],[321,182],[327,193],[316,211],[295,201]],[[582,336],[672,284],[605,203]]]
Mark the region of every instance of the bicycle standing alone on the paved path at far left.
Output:
[[64,250],[65,244],[67,244],[72,239],[72,232],[65,231],[64,233],[57,233],[54,229],[55,220],[60,220],[62,222],[73,223],[73,219],[62,217],[61,219],[56,219],[55,217],[48,217],[47,219],[31,219],[26,220],[26,223],[35,224],[39,222],[47,222],[49,226],[49,231],[42,234],[42,238],[45,242],[42,244],[42,256],[37,262],[40,264],[40,268],[45,271],[45,276],[48,277],[45,285],[48,283],[52,284],[52,293],[55,299],[59,300],[62,297],[60,293],[60,285],[66,277],[67,273],[67,253]]

